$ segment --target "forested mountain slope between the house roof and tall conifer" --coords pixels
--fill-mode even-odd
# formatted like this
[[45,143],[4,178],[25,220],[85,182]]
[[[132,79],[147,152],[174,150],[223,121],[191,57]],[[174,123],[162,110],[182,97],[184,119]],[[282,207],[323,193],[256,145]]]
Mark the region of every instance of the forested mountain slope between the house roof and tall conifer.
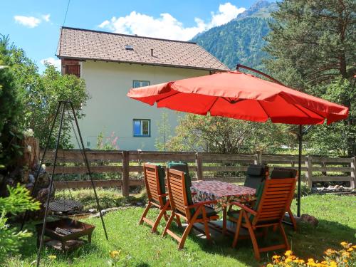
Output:
[[271,11],[277,8],[276,3],[258,1],[236,19],[211,28],[192,41],[233,70],[237,63],[263,70],[261,60],[267,56],[262,51],[266,43],[263,37],[269,32]]

